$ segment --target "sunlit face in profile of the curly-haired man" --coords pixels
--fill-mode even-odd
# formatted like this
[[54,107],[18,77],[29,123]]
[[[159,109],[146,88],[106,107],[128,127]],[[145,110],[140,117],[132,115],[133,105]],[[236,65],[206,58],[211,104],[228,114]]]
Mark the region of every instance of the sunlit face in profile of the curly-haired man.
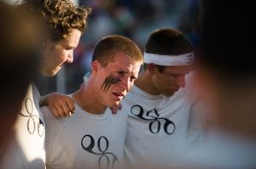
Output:
[[65,63],[73,62],[73,50],[79,45],[81,31],[73,29],[70,36],[58,42],[48,40],[43,49],[41,73],[44,76],[55,76]]

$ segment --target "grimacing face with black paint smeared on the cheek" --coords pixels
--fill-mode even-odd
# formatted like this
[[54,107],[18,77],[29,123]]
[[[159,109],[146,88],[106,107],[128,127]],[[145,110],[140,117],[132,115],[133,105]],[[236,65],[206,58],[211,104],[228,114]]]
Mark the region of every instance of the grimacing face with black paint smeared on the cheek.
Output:
[[117,53],[113,62],[98,70],[102,104],[110,107],[119,104],[137,79],[142,61],[130,59],[123,53]]

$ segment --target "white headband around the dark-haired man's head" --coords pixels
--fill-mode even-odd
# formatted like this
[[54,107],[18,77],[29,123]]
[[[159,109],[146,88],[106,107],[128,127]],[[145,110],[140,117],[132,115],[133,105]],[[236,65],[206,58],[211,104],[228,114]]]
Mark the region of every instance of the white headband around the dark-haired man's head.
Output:
[[179,54],[179,55],[161,55],[144,53],[144,63],[155,65],[191,65],[194,60],[194,53]]

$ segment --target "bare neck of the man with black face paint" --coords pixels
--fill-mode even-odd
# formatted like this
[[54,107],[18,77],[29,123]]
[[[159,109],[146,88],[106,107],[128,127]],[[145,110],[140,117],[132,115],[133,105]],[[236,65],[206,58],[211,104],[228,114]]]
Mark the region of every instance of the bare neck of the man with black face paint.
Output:
[[73,99],[82,110],[87,111],[90,114],[103,114],[108,106],[101,104],[100,99],[97,98],[97,95],[94,92],[95,90],[95,87],[88,82],[76,93],[73,93]]

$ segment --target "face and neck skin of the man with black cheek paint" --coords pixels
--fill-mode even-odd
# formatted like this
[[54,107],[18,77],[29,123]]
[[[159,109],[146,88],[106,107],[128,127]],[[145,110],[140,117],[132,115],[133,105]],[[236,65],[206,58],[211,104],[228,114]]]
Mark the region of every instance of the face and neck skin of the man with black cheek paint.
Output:
[[119,105],[137,79],[141,64],[120,52],[107,66],[95,60],[92,62],[89,81],[73,94],[73,99],[83,110],[102,114],[108,106]]

